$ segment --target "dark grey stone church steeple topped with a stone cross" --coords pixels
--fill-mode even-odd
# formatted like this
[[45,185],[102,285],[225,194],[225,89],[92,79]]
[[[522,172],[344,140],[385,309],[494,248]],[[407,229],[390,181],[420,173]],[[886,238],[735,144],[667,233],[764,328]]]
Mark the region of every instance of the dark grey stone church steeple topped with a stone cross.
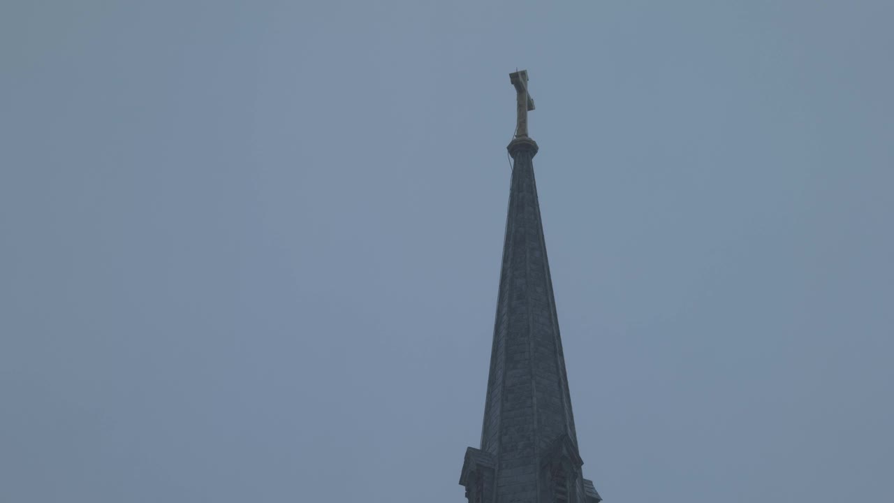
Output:
[[510,74],[518,98],[502,272],[480,448],[460,475],[469,503],[598,503],[583,478],[552,278],[527,136],[527,72]]

